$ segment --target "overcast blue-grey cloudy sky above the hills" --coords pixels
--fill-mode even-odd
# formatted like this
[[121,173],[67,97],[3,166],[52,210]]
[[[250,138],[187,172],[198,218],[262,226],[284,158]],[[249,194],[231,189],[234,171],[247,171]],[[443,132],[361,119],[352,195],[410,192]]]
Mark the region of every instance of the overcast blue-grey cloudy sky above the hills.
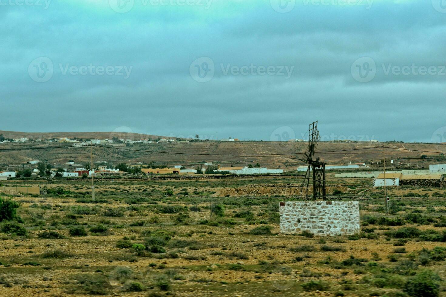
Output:
[[0,0],[0,130],[446,142],[442,0]]

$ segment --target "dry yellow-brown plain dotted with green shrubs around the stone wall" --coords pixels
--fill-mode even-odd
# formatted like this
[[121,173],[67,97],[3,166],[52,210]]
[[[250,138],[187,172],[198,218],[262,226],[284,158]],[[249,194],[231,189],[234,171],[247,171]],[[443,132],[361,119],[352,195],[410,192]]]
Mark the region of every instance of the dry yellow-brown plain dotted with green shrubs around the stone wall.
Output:
[[46,195],[0,193],[20,203],[0,224],[1,295],[446,296],[445,189],[390,188],[385,215],[370,179],[332,175],[330,199],[360,202],[355,236],[281,234],[278,202],[298,198],[268,188],[288,177],[102,180],[94,201],[82,179],[2,182]]

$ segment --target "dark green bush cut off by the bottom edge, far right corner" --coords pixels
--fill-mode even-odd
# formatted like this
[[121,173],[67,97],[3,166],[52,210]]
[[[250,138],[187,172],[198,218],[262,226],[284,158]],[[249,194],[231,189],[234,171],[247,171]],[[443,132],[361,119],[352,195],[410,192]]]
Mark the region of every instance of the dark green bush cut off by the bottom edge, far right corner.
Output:
[[437,297],[440,293],[441,278],[431,270],[424,270],[407,280],[404,292],[409,296]]

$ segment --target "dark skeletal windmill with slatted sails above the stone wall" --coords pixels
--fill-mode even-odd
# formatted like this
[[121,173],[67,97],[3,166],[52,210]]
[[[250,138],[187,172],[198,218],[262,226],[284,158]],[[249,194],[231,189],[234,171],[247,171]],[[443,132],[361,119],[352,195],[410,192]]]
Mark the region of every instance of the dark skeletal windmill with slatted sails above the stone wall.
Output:
[[308,168],[305,174],[304,181],[302,182],[301,194],[306,199],[308,197],[308,188],[310,187],[310,174],[313,173],[313,198],[316,200],[322,198],[325,201],[325,162],[321,162],[319,158],[313,160],[314,153],[316,152],[316,146],[320,140],[318,121],[311,123],[309,132],[308,147],[305,151],[304,160],[308,163]]

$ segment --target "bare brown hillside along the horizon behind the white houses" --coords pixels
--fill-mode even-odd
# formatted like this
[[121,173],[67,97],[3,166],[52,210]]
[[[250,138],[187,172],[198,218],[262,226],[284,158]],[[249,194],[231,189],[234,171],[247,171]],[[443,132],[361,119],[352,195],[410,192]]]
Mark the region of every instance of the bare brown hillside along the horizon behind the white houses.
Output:
[[[57,132],[57,133],[25,133],[0,131],[5,137],[18,138],[112,138],[117,136],[124,139],[140,138],[158,138],[157,135],[146,134],[122,134],[114,132]],[[167,137],[163,137],[167,138]],[[69,145],[69,143],[65,143]],[[28,148],[43,146],[60,146],[62,143],[54,142],[6,142],[0,143],[0,148]],[[164,165],[184,165],[188,168],[195,168],[199,163],[212,162],[221,166],[246,166],[248,164],[260,163],[262,167],[281,168],[285,171],[294,171],[304,162],[293,159],[301,158],[306,150],[307,142],[270,142],[270,141],[240,141],[240,142],[221,142],[221,141],[200,141],[200,142],[160,142],[151,144],[135,143],[131,146],[125,144],[104,144],[115,148],[135,149],[142,151],[127,151],[107,149],[103,147],[93,148],[94,161],[107,161],[112,164],[121,162],[136,164],[156,162]],[[336,151],[332,153],[316,153],[316,156],[328,164],[346,164],[349,162],[372,162],[383,159],[382,142],[320,142],[317,151]],[[385,143],[386,146],[395,147],[395,149],[386,149],[386,159],[394,159],[395,164],[418,164],[420,167],[429,168],[429,164],[446,163],[446,146],[428,143]],[[357,148],[372,148],[359,151],[343,151]],[[414,151],[407,151],[404,148]],[[415,151],[418,150],[418,151]],[[438,153],[426,153],[420,151],[444,151],[444,155]],[[156,151],[156,152],[144,152]],[[165,153],[163,153],[165,152]],[[194,153],[210,155],[176,155],[167,152],[176,153]],[[294,155],[274,155],[293,153]],[[268,155],[269,156],[261,156]],[[231,156],[232,155],[232,156]],[[248,156],[243,156],[248,155]],[[421,158],[426,155],[427,158]],[[425,156],[423,156],[425,157]],[[434,157],[435,159],[431,159]],[[412,158],[412,159],[410,159]],[[27,161],[39,159],[49,163],[65,163],[70,159],[79,163],[86,163],[90,160],[89,147],[70,147],[45,150],[20,150],[20,151],[0,151],[0,170],[12,165],[21,165]]]

